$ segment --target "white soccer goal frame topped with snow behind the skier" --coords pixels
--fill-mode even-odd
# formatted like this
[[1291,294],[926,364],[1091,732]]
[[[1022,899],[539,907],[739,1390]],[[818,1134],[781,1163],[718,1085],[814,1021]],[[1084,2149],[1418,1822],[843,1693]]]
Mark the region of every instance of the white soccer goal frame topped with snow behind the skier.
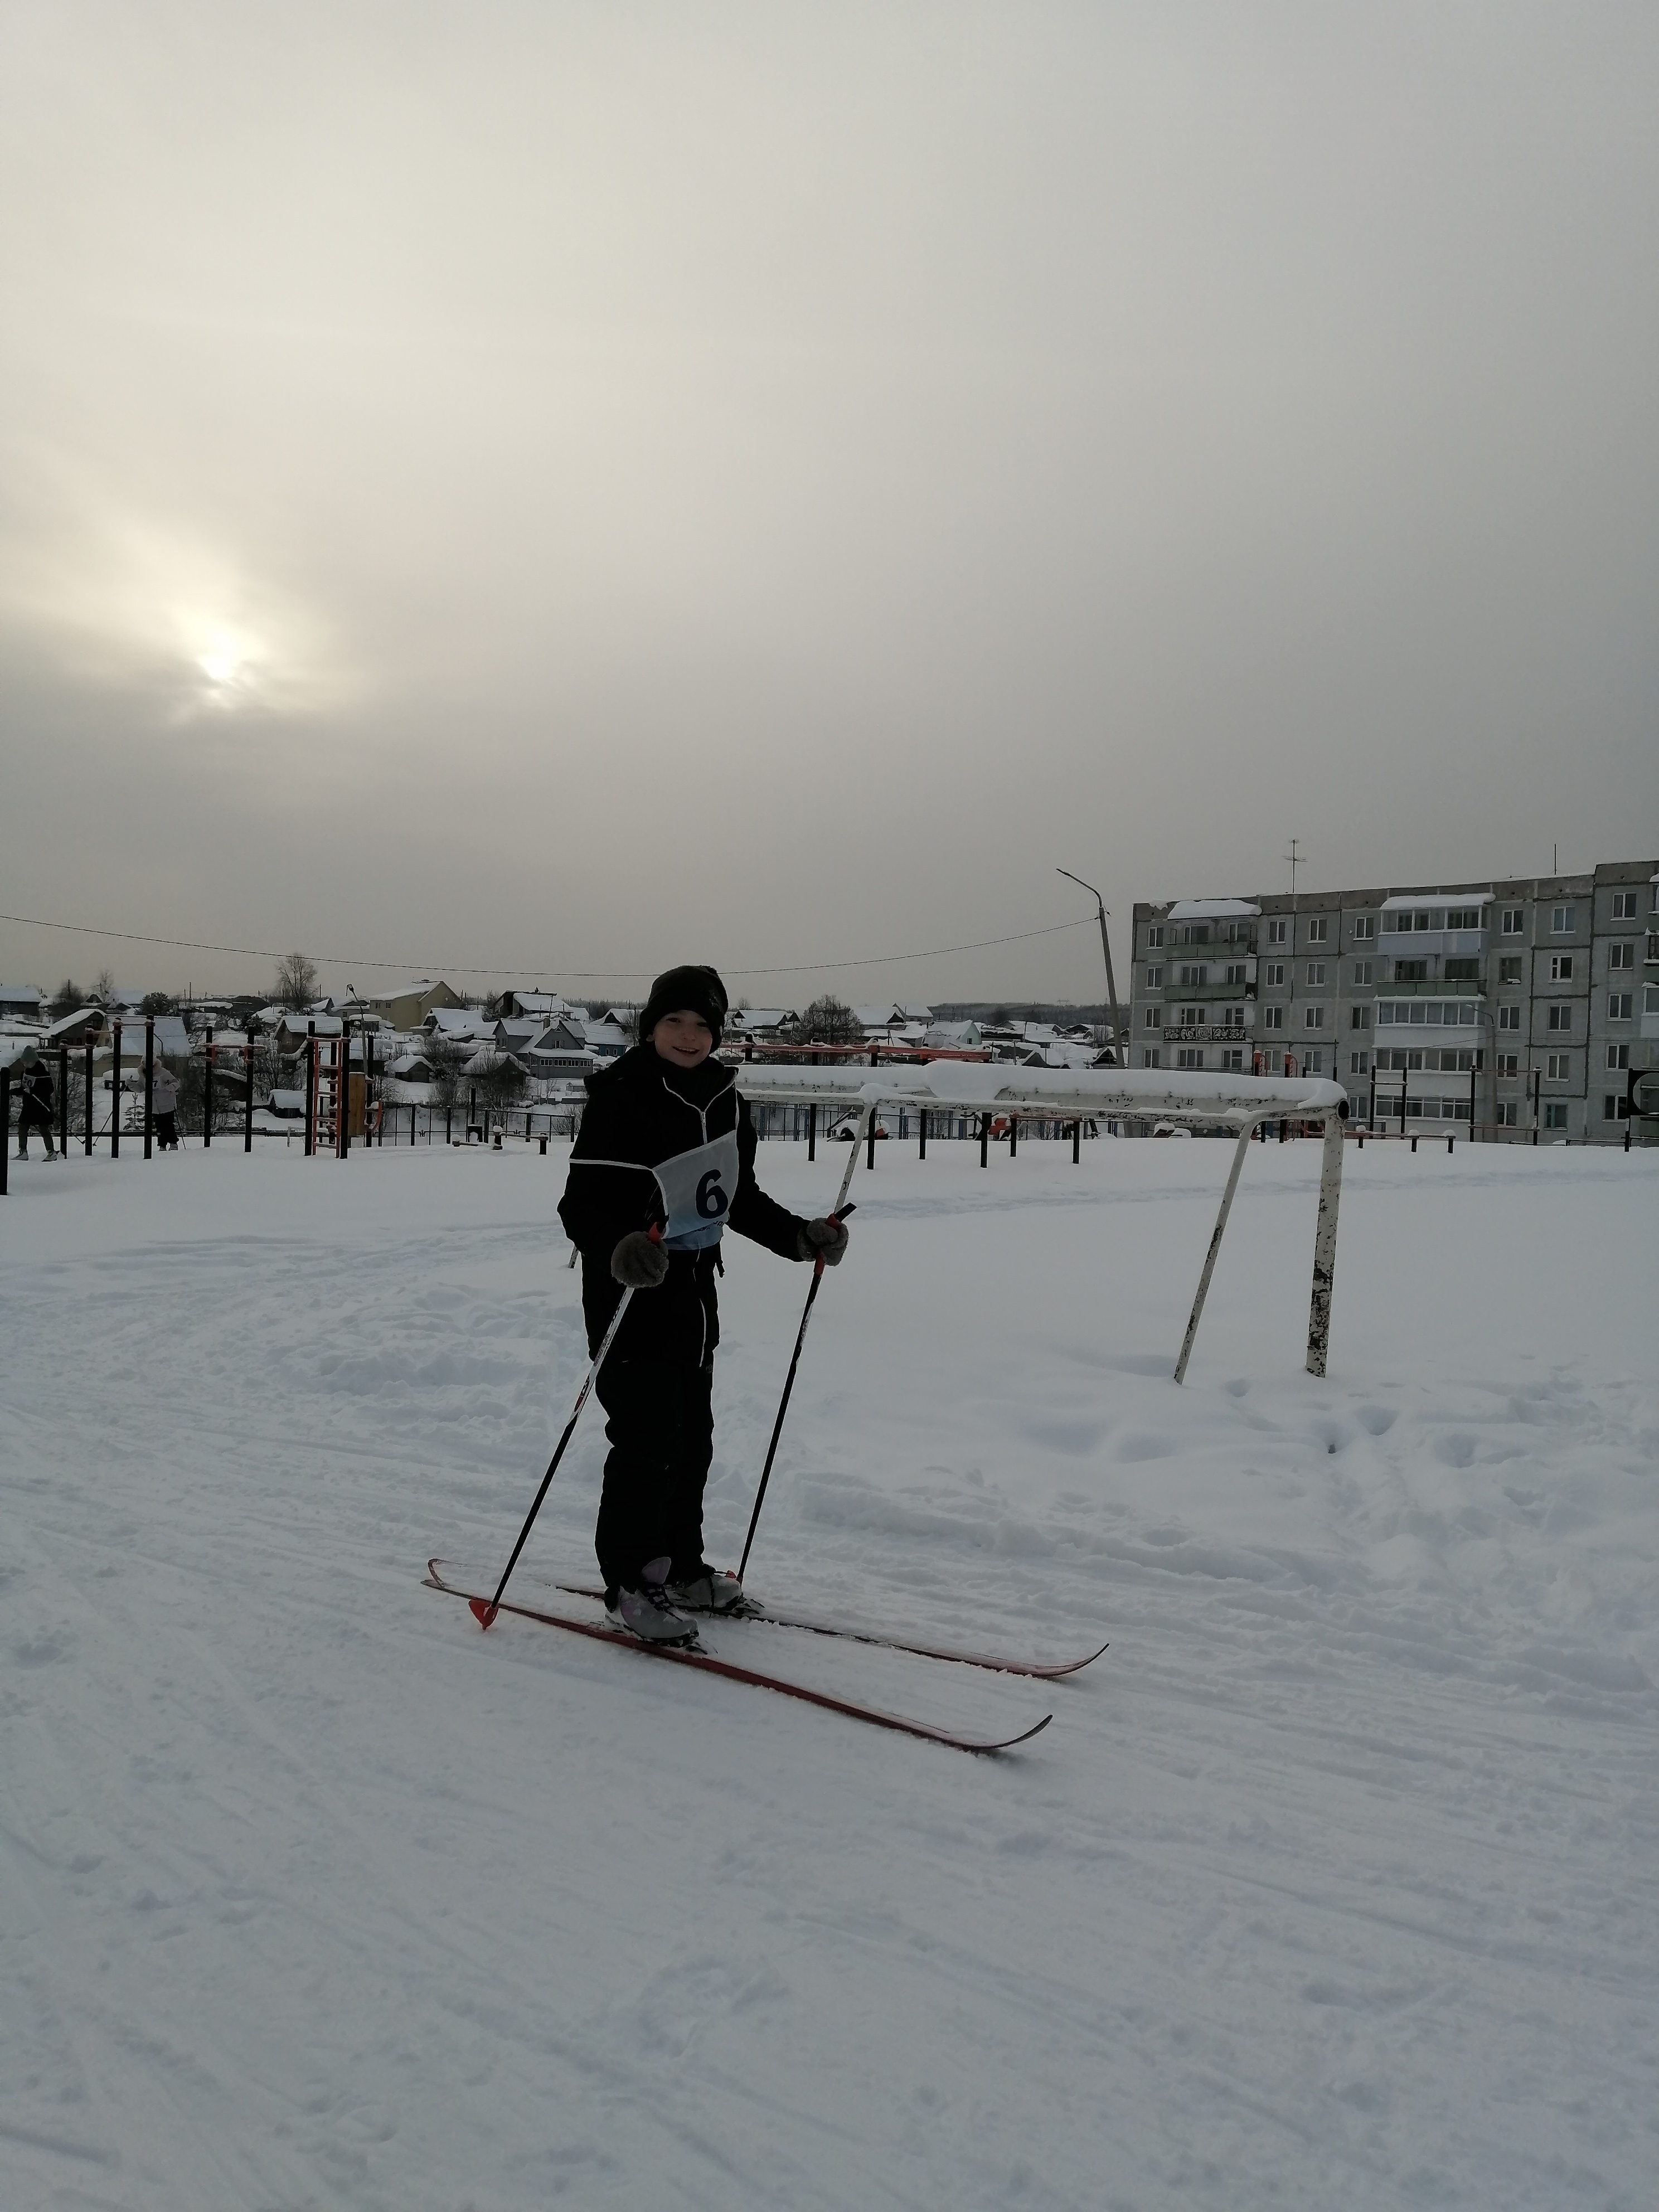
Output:
[[1263,1121],[1318,1121],[1325,1146],[1318,1168],[1318,1219],[1314,1225],[1314,1290],[1307,1310],[1307,1374],[1325,1374],[1332,1334],[1332,1281],[1336,1276],[1336,1210],[1343,1194],[1343,1121],[1347,1093],[1314,1075],[1206,1075],[1168,1068],[1013,1068],[973,1060],[889,1062],[878,1068],[781,1068],[741,1062],[737,1088],[752,1104],[841,1106],[872,1113],[883,1106],[916,1106],[927,1113],[967,1110],[975,1115],[1046,1115],[1057,1121],[1197,1121],[1239,1130],[1221,1194],[1203,1274],[1175,1363],[1175,1380],[1186,1380],[1199,1316],[1210,1294],[1221,1237],[1232,1212],[1250,1139]]

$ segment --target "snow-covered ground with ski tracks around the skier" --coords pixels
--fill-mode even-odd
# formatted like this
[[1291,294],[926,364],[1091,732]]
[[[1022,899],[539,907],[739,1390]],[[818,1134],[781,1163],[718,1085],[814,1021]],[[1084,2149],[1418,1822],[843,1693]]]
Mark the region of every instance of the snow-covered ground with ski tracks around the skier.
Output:
[[[4,2205],[1650,2208],[1659,1157],[1349,1148],[1314,1383],[1256,1146],[1177,1391],[1228,1157],[858,1170],[750,1584],[1110,1635],[801,1659],[1002,1761],[420,1586],[582,1376],[560,1148],[13,1166]],[[728,1239],[714,1557],[805,1281]]]

